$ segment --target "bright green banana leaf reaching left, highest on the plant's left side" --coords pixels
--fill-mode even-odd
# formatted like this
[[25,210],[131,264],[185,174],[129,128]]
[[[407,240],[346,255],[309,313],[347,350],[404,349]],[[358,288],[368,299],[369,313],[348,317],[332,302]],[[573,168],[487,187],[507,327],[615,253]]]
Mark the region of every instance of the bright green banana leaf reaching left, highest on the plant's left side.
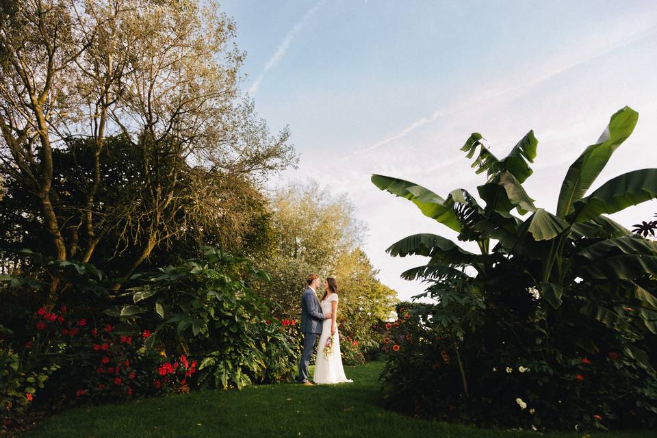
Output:
[[433,218],[454,231],[461,232],[461,222],[454,209],[446,206],[443,198],[422,185],[383,175],[372,175],[372,183],[381,190],[407,198],[420,208],[424,216]]

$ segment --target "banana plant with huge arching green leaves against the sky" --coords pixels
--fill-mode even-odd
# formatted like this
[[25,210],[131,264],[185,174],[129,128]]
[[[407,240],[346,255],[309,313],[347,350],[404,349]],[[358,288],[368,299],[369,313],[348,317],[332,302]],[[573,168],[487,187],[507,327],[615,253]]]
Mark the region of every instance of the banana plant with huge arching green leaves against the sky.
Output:
[[[459,240],[476,242],[480,254],[469,253],[443,237],[421,234],[405,237],[387,249],[394,256],[430,257],[424,266],[404,272],[405,278],[446,281],[465,276],[465,267],[476,270],[476,279],[487,283],[495,279],[495,266],[515,263],[516,272],[529,278],[541,298],[555,311],[578,282],[601,294],[614,296],[615,302],[632,302],[641,308],[640,319],[652,333],[657,331],[657,300],[644,286],[647,276],[657,276],[657,244],[632,235],[606,214],[657,197],[657,169],[647,168],[619,175],[590,194],[589,189],[608,163],[613,152],[630,136],[639,114],[624,107],[610,118],[602,136],[588,146],[569,167],[559,192],[556,214],[537,208],[522,184],[532,175],[530,163],[537,155],[538,140],[533,131],[498,159],[480,133],[472,133],[461,148],[474,162],[476,173],[486,172],[487,180],[478,186],[478,201],[464,189],[446,197],[392,177],[372,175],[381,190],[415,203],[422,213],[459,233]],[[521,216],[530,213],[528,218]],[[498,241],[490,248],[491,241]],[[618,329],[623,314],[621,304],[614,308],[597,305],[594,299],[582,308],[589,317]],[[636,336],[639,336],[635,333]]]

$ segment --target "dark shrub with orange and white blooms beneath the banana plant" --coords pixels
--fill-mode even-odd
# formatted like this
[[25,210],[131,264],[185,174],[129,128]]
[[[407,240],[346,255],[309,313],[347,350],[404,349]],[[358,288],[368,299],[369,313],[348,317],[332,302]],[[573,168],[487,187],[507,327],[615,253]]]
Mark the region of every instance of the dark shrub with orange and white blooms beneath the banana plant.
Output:
[[[655,424],[654,370],[634,357],[640,354],[634,344],[602,324],[553,328],[545,345],[531,320],[504,318],[489,307],[478,311],[489,321],[487,330],[465,327],[460,339],[439,318],[443,310],[403,305],[398,320],[385,325],[381,346],[382,380],[393,409],[533,429]],[[572,333],[582,330],[597,339],[597,352],[582,355],[572,341]]]

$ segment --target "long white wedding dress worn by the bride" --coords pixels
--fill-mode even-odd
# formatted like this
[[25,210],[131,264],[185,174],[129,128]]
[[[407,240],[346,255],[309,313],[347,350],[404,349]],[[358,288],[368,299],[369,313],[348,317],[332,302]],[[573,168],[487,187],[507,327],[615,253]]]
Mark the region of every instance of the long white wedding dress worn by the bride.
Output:
[[[337,294],[331,294],[326,297],[321,303],[322,312],[328,313],[331,311],[331,302],[337,302]],[[322,335],[320,335],[320,342],[317,346],[317,360],[315,361],[315,375],[313,381],[315,383],[344,383],[352,382],[344,374],[342,368],[342,355],[340,355],[340,335],[335,328],[335,335],[333,336],[333,349],[328,358],[324,357],[324,346],[326,339],[331,336],[331,319],[324,320],[322,326]]]

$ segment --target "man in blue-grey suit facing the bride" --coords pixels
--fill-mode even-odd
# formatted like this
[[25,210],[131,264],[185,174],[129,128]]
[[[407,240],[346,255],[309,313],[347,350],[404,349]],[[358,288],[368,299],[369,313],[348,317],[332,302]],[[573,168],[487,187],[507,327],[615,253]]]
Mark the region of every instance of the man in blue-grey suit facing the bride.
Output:
[[313,385],[309,378],[308,365],[313,355],[317,337],[322,333],[322,323],[331,318],[331,312],[322,313],[320,300],[315,291],[320,285],[320,276],[310,274],[306,277],[308,287],[301,295],[301,332],[303,333],[303,352],[299,361],[299,383]]

